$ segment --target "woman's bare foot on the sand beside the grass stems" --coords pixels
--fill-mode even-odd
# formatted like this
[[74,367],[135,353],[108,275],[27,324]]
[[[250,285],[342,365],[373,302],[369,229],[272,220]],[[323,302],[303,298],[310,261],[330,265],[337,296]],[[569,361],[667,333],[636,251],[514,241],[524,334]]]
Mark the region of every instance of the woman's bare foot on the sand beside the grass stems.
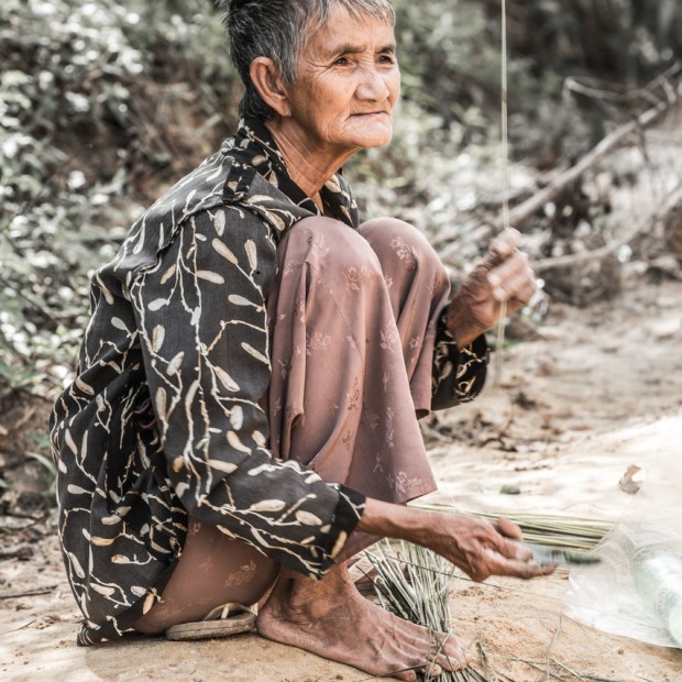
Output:
[[372,604],[355,590],[345,565],[323,580],[282,575],[260,609],[258,632],[353,666],[373,675],[417,680],[417,670],[432,675],[466,666],[452,635],[430,632]]

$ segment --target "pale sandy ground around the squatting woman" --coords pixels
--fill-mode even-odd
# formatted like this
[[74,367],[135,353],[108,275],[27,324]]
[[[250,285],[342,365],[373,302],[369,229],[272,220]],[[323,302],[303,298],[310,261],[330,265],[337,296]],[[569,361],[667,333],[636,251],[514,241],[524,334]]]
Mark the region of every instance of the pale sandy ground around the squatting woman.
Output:
[[[618,485],[627,468],[646,466],[682,440],[682,283],[651,284],[640,275],[626,282],[618,298],[587,310],[553,306],[540,338],[504,352],[501,387],[425,425],[440,482],[431,502],[496,514],[618,517],[631,498]],[[503,494],[503,486],[518,494]],[[2,680],[370,679],[255,634],[78,648],[79,616],[54,535],[37,528],[16,540],[31,543],[33,556],[0,561]],[[682,681],[682,651],[566,617],[568,576],[561,570],[528,583],[455,579],[453,630],[474,660],[483,648],[499,680]]]

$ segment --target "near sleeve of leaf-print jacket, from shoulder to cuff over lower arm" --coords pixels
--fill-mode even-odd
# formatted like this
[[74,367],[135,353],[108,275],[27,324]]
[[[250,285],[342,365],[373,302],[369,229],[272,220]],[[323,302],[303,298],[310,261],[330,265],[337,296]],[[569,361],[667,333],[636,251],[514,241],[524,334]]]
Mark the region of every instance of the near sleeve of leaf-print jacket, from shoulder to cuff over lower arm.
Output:
[[130,296],[167,477],[188,514],[311,578],[328,571],[364,496],[267,449],[265,300],[275,244],[250,212],[188,218]]

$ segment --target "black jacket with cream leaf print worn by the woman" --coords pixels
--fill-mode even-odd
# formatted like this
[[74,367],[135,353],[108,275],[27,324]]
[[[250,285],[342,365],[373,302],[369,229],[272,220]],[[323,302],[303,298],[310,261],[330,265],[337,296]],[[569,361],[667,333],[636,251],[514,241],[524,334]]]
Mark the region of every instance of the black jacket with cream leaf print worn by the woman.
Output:
[[[358,227],[340,175],[321,196],[344,230]],[[188,513],[312,578],[344,548],[363,493],[274,459],[265,409],[278,371],[267,306],[286,272],[278,273],[277,245],[317,215],[264,127],[242,123],[94,275],[77,378],[51,419],[59,540],[86,618],[80,644],[131,631],[151,608],[182,552]],[[315,249],[333,252],[333,244]],[[370,276],[359,266],[344,274],[350,290]],[[299,316],[307,305],[290,304]],[[381,332],[382,351],[399,352],[395,331]],[[320,328],[301,352],[324,352],[332,341]],[[433,358],[458,367],[459,351],[444,342]],[[482,372],[480,360],[473,373]],[[361,405],[360,388],[349,386],[350,404]],[[462,397],[449,391],[450,404]],[[394,477],[394,488],[408,485],[399,472]]]

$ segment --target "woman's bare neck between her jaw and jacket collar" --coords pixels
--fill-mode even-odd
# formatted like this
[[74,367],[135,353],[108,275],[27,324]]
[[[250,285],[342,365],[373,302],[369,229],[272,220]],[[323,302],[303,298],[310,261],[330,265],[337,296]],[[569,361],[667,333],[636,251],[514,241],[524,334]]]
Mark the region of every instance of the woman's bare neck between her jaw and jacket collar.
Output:
[[292,179],[321,208],[324,183],[358,151],[321,148],[307,140],[288,119],[265,121]]

